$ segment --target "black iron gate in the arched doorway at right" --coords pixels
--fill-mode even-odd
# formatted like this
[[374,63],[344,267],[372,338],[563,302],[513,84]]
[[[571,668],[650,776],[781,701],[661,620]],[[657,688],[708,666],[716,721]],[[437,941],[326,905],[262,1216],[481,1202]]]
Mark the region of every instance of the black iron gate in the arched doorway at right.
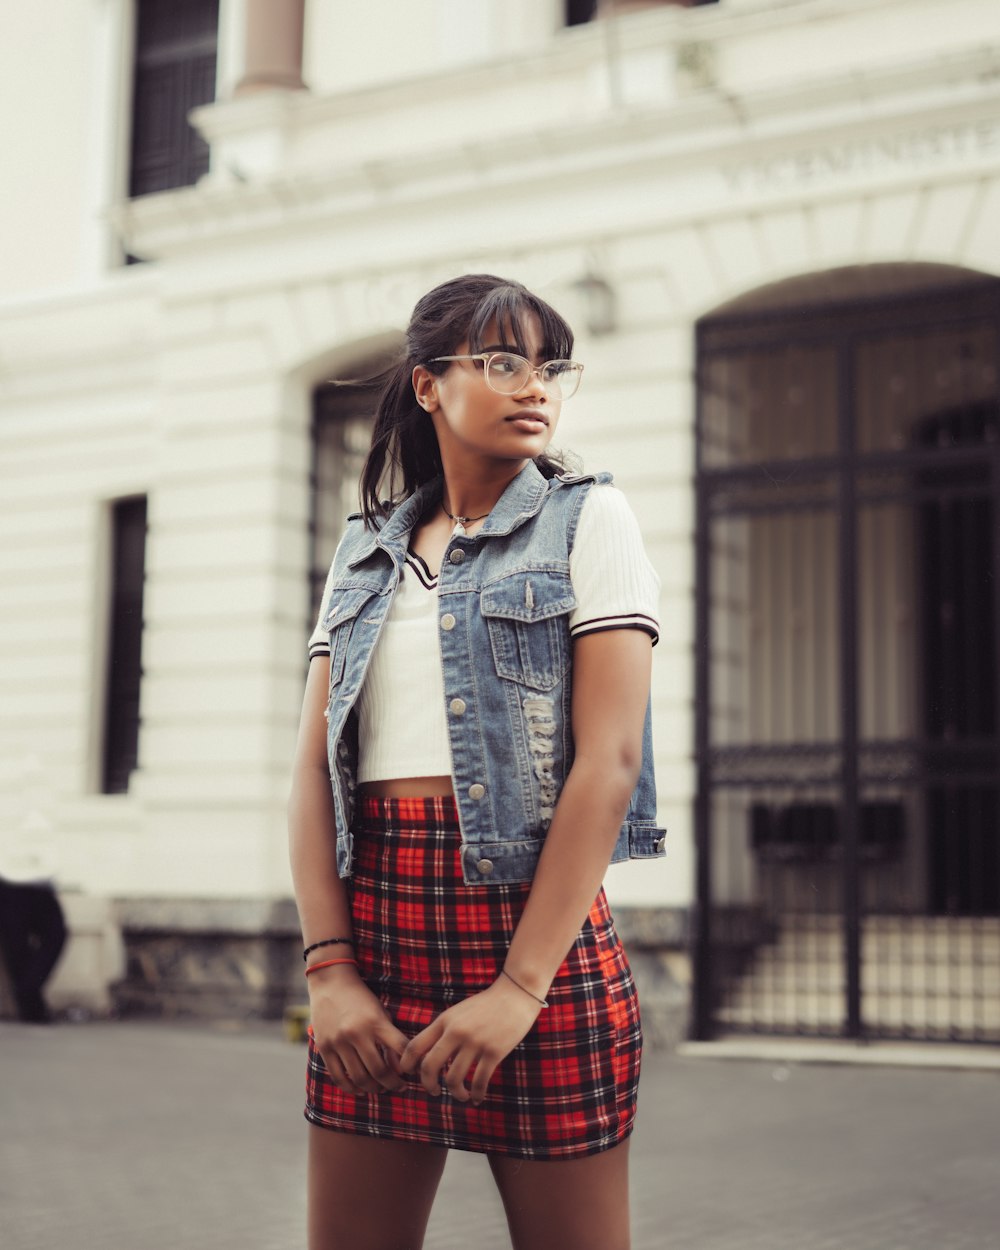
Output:
[[1000,282],[698,369],[694,1032],[1000,1041]]

